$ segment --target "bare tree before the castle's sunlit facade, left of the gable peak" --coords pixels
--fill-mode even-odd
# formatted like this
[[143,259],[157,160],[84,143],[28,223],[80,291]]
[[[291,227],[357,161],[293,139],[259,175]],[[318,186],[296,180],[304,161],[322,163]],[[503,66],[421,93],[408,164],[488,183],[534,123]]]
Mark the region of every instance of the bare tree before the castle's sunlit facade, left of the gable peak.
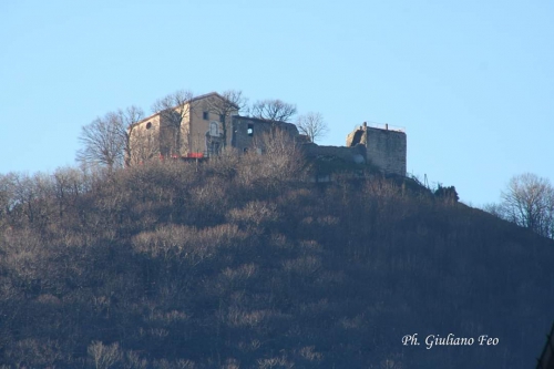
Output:
[[[160,132],[161,136],[171,136],[172,143],[168,147],[168,154],[181,155],[183,145],[188,148],[188,141],[183,142],[182,135],[184,134],[188,139],[188,132],[183,131],[183,122],[189,116],[191,102],[194,94],[188,90],[178,90],[174,93],[166,95],[163,99],[157,100],[152,105],[152,111],[160,114],[161,124],[164,127],[161,130],[170,130],[170,132]],[[188,127],[186,127],[188,129]]]

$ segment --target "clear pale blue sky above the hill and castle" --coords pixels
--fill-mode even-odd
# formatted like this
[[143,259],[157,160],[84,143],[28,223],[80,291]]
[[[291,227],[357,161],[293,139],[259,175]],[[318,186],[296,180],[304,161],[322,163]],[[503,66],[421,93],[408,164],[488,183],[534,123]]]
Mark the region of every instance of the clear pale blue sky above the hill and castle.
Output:
[[497,202],[554,183],[551,0],[0,2],[0,174],[75,165],[81,127],[176,90],[242,90],[408,136],[408,172]]

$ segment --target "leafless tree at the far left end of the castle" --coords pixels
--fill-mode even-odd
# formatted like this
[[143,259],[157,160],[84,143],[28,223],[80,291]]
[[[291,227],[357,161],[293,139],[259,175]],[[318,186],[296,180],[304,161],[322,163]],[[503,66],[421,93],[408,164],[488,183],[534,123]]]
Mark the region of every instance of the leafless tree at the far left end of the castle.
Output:
[[81,130],[79,141],[83,148],[76,153],[78,162],[82,164],[105,165],[110,171],[123,164],[125,148],[125,127],[114,113],[96,117]]

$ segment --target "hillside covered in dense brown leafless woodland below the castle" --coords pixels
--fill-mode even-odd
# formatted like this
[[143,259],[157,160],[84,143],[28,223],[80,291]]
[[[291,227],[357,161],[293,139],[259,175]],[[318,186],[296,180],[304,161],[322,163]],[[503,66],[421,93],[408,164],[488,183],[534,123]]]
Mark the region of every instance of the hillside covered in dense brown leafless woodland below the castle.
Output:
[[[1,368],[530,368],[554,244],[296,155],[0,176]],[[496,346],[402,346],[404,335]],[[2,366],[3,363],[3,366]]]

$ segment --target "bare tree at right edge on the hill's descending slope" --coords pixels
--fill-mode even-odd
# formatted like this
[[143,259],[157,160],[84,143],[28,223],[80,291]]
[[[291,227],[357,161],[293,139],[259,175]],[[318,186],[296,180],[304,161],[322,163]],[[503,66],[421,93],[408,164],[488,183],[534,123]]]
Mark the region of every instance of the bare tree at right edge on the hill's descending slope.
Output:
[[545,236],[554,237],[554,187],[546,178],[525,173],[512,177],[502,192],[501,217]]

